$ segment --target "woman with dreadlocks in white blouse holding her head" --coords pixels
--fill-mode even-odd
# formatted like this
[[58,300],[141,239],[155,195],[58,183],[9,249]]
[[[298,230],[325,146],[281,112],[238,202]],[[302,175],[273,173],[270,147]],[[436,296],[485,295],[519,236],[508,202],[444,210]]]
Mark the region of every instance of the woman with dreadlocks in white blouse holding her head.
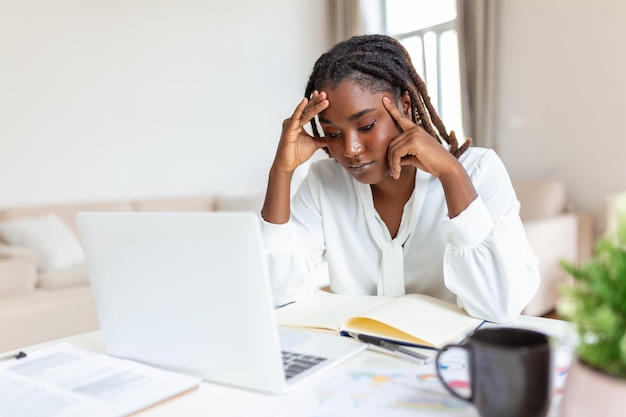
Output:
[[[290,201],[294,170],[320,148],[331,158]],[[353,37],[317,60],[283,123],[261,215],[277,304],[298,298],[323,259],[333,292],[423,293],[495,322],[539,284],[502,162],[458,146],[388,36]]]

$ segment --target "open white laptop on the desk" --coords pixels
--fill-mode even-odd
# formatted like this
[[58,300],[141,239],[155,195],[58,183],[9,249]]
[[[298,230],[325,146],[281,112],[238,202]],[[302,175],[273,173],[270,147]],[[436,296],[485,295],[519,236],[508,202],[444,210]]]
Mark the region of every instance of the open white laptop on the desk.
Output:
[[[81,212],[76,223],[107,354],[282,393],[365,349],[277,327],[256,213]],[[286,371],[291,355],[298,371],[314,365]]]

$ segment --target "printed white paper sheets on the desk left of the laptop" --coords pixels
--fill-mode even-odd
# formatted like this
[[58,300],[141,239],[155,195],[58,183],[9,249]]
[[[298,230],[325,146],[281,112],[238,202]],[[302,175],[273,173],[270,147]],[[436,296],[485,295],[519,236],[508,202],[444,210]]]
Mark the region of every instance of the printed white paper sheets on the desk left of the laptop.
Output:
[[126,416],[199,384],[194,377],[61,344],[0,363],[0,415]]

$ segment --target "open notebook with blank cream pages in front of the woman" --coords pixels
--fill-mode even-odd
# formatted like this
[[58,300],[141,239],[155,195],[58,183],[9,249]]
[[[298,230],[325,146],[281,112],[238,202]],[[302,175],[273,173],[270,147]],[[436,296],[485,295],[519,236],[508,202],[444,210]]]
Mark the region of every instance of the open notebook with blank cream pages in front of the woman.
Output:
[[354,332],[439,348],[482,324],[454,304],[423,294],[402,297],[320,292],[276,310],[279,326]]

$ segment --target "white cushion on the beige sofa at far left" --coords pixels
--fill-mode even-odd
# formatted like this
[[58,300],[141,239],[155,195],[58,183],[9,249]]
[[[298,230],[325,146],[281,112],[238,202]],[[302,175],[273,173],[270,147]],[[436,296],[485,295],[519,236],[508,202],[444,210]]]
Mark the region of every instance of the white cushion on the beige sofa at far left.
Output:
[[78,239],[53,213],[0,222],[0,235],[11,245],[32,250],[39,270],[59,270],[85,262]]

